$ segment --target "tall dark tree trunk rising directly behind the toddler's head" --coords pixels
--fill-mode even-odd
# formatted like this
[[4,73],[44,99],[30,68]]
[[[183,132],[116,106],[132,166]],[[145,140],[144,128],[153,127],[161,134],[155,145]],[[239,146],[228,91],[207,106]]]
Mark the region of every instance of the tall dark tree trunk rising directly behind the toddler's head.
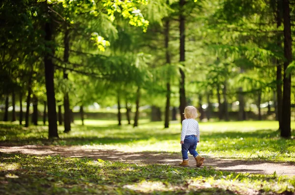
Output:
[[[180,47],[179,47],[179,54],[180,54],[180,64],[182,64],[182,66],[184,66],[183,62],[185,61],[185,47],[184,47],[184,43],[185,43],[185,18],[183,15],[184,12],[184,6],[185,4],[185,0],[179,0],[179,36],[180,36]],[[180,101],[180,106],[179,106],[179,111],[180,111],[180,116],[181,116],[181,121],[180,123],[185,119],[184,118],[184,108],[186,106],[186,98],[185,98],[185,74],[183,72],[183,70],[180,68],[179,69],[180,72],[180,81],[179,81],[179,101]]]

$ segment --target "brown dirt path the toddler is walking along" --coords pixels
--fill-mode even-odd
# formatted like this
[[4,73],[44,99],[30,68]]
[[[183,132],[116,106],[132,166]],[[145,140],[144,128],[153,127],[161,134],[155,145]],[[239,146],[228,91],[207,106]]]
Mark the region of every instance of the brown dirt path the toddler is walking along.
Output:
[[[0,152],[22,153],[39,156],[61,155],[64,157],[89,157],[110,161],[121,161],[137,164],[163,164],[175,166],[181,161],[181,154],[166,152],[121,152],[116,150],[98,150],[82,146],[0,146]],[[195,160],[189,157],[190,167],[195,167]],[[212,166],[219,170],[242,173],[260,173],[295,176],[295,165],[288,163],[272,163],[266,161],[245,161],[235,159],[206,158],[203,166]],[[202,167],[203,167],[202,166]]]

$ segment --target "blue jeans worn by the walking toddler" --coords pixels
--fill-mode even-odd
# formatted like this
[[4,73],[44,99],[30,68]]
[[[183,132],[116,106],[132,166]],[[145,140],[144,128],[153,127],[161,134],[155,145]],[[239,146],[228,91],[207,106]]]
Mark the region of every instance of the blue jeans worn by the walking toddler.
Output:
[[184,138],[184,144],[181,145],[181,153],[182,159],[188,160],[187,151],[194,157],[198,156],[198,152],[196,151],[198,138],[194,135],[187,135]]

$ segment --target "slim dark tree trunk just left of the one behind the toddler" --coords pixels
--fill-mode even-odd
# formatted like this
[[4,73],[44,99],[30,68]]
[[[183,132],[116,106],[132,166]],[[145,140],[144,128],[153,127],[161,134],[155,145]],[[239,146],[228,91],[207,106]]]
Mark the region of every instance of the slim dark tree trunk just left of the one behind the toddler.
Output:
[[[167,0],[169,4],[169,1]],[[166,63],[171,63],[170,51],[169,51],[169,30],[170,30],[170,21],[169,18],[165,19],[165,54],[166,54]],[[169,74],[168,74],[169,76]],[[169,128],[169,113],[170,113],[170,97],[171,97],[171,89],[170,89],[170,76],[168,77],[168,81],[166,83],[166,107],[165,107],[165,123],[164,128]]]

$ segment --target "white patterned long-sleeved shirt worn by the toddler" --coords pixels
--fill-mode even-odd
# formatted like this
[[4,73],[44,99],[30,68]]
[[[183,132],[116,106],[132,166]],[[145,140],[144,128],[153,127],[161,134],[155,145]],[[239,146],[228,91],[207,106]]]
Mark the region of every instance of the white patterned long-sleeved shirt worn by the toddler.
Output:
[[199,123],[194,119],[185,119],[182,121],[182,130],[180,141],[184,141],[186,135],[197,135],[200,141]]

